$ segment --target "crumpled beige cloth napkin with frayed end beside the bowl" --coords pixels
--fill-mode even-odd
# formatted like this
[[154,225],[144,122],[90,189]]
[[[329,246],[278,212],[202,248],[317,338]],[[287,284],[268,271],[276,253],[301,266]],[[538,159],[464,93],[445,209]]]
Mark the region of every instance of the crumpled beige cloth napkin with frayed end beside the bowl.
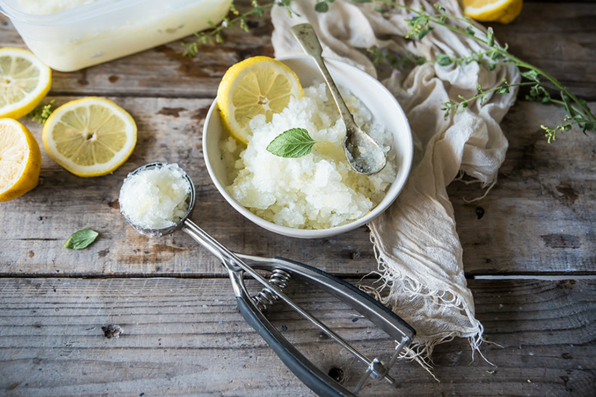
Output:
[[[441,26],[435,26],[420,41],[404,39],[408,32],[405,18],[412,15],[401,8],[381,14],[374,10],[380,3],[336,0],[329,4],[328,12],[319,13],[315,2],[291,2],[300,16],[290,17],[283,7],[274,7],[272,42],[277,57],[303,54],[290,32],[291,26],[303,22],[315,28],[325,57],[349,62],[375,77],[380,71],[366,51],[373,46],[427,59],[439,53],[462,57],[486,49]],[[405,4],[436,12],[426,0],[406,0]],[[462,16],[457,0],[442,0],[440,5],[450,14]],[[374,292],[389,289],[388,294],[384,291],[383,302],[417,330],[404,356],[427,369],[437,343],[466,337],[473,357],[482,342],[483,327],[476,320],[473,296],[464,277],[462,247],[446,186],[464,173],[482,187],[496,182],[508,145],[499,122],[513,105],[516,91],[489,95],[482,105],[470,102],[464,111],[446,118],[442,103],[459,101],[458,95],[470,98],[478,84],[486,90],[499,85],[503,78],[516,83],[520,75],[511,66],[491,71],[477,62],[460,66],[431,62],[381,79],[408,116],[415,153],[408,183],[398,199],[368,225],[382,277]]]

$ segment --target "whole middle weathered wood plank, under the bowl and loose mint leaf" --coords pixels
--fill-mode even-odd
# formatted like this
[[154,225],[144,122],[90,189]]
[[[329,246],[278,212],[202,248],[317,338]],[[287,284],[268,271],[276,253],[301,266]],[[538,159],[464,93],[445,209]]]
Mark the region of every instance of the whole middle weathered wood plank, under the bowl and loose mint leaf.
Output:
[[[72,98],[54,99],[61,104]],[[367,227],[330,239],[297,240],[260,229],[229,207],[204,167],[200,140],[210,99],[112,99],[138,122],[131,158],[111,175],[80,178],[42,149],[41,184],[2,203],[0,274],[225,275],[184,233],[150,239],[120,215],[122,180],[152,161],[178,162],[188,171],[197,187],[193,219],[234,251],[281,255],[330,273],[375,270]],[[519,102],[503,122],[511,144],[494,189],[466,204],[462,198],[482,195],[479,186],[449,187],[468,274],[596,272],[594,137],[573,131],[548,145],[539,125],[560,117],[553,108]],[[41,126],[26,124],[41,142]],[[61,248],[84,227],[101,233],[97,242],[82,251]]]

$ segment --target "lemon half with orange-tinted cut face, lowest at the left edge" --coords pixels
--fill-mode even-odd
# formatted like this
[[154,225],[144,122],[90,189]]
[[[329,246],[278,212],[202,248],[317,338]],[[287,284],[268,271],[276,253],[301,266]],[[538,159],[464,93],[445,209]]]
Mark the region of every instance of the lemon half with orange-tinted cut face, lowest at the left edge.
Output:
[[37,186],[41,152],[35,136],[12,118],[0,118],[0,202]]

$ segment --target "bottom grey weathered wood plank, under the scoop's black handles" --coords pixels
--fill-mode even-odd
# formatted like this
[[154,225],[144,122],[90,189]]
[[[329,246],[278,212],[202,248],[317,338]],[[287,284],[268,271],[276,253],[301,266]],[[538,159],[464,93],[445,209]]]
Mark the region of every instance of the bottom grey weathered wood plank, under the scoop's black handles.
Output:
[[[378,396],[593,396],[596,392],[596,284],[470,280],[483,345],[496,366],[465,340],[439,345],[435,382],[417,364],[398,362],[397,388]],[[0,390],[6,396],[313,395],[278,360],[235,308],[224,279],[1,279]],[[294,285],[300,304],[371,355],[384,337],[343,305]],[[346,382],[358,367],[305,327],[273,308],[284,335]],[[347,323],[347,325],[346,325]],[[122,327],[107,339],[101,327]],[[366,348],[364,347],[366,346]]]

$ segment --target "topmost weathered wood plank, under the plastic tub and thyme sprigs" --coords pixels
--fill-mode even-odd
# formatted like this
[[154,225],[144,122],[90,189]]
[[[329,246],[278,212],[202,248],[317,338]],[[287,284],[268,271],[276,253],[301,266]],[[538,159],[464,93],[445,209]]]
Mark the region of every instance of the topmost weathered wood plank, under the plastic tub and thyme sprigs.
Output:
[[[241,7],[250,7],[241,1]],[[268,15],[268,14],[266,14]],[[596,4],[524,4],[522,14],[508,25],[491,24],[511,53],[544,68],[586,99],[596,99]],[[252,30],[227,30],[224,43],[201,46],[195,58],[182,57],[179,41],[72,73],[54,73],[52,92],[97,95],[141,95],[212,98],[219,79],[235,62],[253,55],[274,54],[269,18],[250,18]],[[190,40],[188,37],[185,40]],[[531,45],[529,45],[531,43]],[[0,15],[0,46],[24,43],[12,24]]]

